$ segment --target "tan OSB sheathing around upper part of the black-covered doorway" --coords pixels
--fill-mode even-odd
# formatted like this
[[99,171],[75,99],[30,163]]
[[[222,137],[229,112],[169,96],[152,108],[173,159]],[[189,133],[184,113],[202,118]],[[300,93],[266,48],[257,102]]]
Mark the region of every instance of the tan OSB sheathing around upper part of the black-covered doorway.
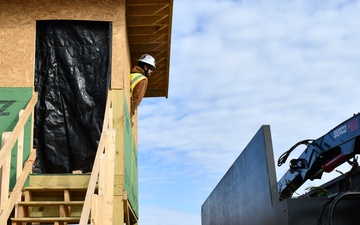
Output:
[[113,24],[112,86],[123,88],[124,4],[124,0],[0,1],[1,86],[33,87],[37,20],[94,20]]

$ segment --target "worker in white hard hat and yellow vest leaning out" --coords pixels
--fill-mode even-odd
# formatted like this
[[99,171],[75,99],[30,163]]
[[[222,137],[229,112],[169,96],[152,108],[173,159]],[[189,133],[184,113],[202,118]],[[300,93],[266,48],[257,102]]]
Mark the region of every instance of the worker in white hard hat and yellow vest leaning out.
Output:
[[130,91],[131,91],[131,125],[133,126],[132,117],[135,115],[137,107],[140,105],[148,85],[148,78],[153,73],[155,66],[155,58],[149,54],[143,54],[137,60],[137,66],[130,71]]

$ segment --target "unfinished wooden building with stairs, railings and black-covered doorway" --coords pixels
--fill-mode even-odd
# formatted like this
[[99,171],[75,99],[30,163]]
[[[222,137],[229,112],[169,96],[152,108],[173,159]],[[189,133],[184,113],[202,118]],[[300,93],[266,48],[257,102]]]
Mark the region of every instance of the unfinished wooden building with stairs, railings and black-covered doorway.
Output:
[[137,224],[130,68],[168,97],[172,0],[0,2],[0,224]]

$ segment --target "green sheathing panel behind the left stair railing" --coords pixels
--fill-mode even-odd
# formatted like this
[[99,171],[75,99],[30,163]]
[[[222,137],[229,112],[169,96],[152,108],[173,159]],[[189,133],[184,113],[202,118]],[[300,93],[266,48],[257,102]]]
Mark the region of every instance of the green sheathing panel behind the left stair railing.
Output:
[[[0,134],[11,132],[19,120],[20,110],[25,109],[32,97],[33,89],[27,87],[1,87],[0,88]],[[31,141],[31,117],[24,129],[24,154],[23,162],[29,157]],[[2,146],[0,138],[0,146]],[[16,158],[17,144],[11,151],[10,190],[16,183]],[[28,181],[25,185],[28,184]]]

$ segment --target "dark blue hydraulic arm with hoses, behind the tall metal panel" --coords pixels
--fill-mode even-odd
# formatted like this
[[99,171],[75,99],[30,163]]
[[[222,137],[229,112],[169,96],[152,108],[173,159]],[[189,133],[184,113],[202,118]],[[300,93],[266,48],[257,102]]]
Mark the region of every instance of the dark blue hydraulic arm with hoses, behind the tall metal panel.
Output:
[[279,157],[278,166],[281,166],[295,148],[307,146],[297,159],[290,160],[289,170],[278,181],[281,200],[290,198],[307,180],[321,179],[324,172],[329,173],[345,162],[353,166],[352,170],[357,167],[355,155],[360,153],[359,118],[359,113],[354,114],[324,136],[300,141]]

